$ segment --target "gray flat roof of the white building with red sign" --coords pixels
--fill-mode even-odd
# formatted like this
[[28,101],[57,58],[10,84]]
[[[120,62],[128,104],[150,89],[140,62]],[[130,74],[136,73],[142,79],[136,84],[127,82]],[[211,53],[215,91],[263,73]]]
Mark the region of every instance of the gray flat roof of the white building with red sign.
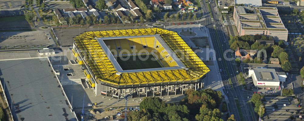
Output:
[[253,71],[255,73],[257,81],[279,81],[275,69],[253,68]]

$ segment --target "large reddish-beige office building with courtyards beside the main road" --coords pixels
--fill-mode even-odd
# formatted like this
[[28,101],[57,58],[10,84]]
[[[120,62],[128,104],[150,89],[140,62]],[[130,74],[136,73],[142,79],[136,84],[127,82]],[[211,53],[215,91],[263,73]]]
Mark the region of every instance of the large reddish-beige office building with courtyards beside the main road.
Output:
[[262,34],[287,41],[288,30],[277,8],[234,6],[233,19],[240,36]]

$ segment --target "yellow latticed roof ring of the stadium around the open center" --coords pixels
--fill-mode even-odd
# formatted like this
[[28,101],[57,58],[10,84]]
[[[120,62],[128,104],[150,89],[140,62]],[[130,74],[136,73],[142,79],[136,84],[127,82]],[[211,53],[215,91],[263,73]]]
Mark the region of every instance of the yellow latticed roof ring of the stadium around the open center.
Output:
[[[118,36],[143,36],[159,35],[161,39],[174,52],[176,57],[185,66],[183,69],[143,71],[143,72],[118,72],[109,60],[97,38]],[[176,32],[159,28],[120,29],[106,31],[90,31],[74,37],[74,44],[85,63],[97,79],[97,83],[115,87],[128,87],[130,85],[149,85],[157,83],[187,83],[194,82],[209,72],[209,68],[181,39]],[[119,74],[118,74],[119,73]]]

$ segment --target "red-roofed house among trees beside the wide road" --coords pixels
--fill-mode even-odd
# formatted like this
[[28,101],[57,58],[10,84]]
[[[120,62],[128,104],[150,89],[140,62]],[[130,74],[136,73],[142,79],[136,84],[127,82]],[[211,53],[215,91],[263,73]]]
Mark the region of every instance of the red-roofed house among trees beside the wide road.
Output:
[[243,50],[237,48],[235,51],[235,59],[239,58],[241,61],[249,58],[250,60],[257,54],[257,50]]

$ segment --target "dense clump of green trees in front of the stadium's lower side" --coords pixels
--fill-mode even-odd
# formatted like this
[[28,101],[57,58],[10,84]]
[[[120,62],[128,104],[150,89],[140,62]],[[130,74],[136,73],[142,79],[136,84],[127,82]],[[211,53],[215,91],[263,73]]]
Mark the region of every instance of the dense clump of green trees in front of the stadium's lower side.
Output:
[[[190,115],[198,121],[223,121],[223,113],[216,107],[222,101],[222,93],[211,89],[195,91],[188,89],[179,105],[165,104],[158,97],[148,97],[140,103],[141,110],[130,112],[130,121],[189,121]],[[230,116],[229,121],[235,121]]]

